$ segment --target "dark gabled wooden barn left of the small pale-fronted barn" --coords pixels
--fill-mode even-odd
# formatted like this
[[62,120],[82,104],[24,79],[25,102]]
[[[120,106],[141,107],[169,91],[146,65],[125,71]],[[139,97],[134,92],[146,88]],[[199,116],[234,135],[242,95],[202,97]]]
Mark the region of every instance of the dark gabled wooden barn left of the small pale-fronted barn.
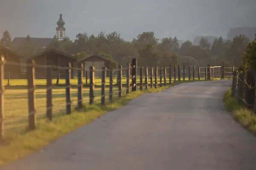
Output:
[[[74,67],[78,58],[63,53],[61,51],[50,49],[41,53],[35,54],[27,59],[33,59],[37,65],[46,65],[47,61],[52,62],[52,65],[58,67],[65,67],[67,63],[71,63]],[[52,68],[52,79],[56,79],[60,74],[60,79],[65,79],[65,70],[61,68]],[[72,70],[71,79],[74,78],[74,71]],[[35,68],[35,79],[46,79],[46,68]]]

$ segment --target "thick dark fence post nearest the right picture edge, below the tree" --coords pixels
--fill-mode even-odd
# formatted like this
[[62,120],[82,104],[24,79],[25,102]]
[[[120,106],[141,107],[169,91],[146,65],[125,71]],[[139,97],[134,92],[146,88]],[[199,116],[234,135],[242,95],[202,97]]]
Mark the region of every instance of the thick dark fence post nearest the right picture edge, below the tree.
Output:
[[247,71],[246,82],[245,101],[248,104],[247,108],[253,110],[255,101],[255,70]]

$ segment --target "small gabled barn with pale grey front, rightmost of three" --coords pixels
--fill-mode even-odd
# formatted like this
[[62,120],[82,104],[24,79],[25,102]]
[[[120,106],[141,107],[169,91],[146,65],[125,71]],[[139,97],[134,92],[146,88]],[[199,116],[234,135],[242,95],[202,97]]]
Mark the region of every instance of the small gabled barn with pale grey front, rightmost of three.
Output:
[[90,66],[94,66],[95,68],[95,77],[101,77],[102,71],[100,70],[102,70],[102,67],[107,67],[109,69],[111,62],[112,61],[110,59],[102,57],[98,54],[92,54],[88,57],[84,57],[83,59],[78,60],[78,63],[84,64],[84,77],[86,76],[86,71],[88,74],[87,76],[89,76]]

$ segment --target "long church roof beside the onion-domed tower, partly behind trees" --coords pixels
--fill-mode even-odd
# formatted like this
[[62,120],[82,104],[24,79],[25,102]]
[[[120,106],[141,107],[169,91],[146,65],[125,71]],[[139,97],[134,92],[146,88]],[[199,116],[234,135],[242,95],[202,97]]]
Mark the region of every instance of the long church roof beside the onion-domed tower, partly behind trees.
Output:
[[[31,41],[41,45],[42,47],[46,47],[51,41],[53,40],[53,38],[31,38]],[[12,44],[15,46],[19,46],[22,45],[26,42],[26,37],[15,37],[12,40]]]

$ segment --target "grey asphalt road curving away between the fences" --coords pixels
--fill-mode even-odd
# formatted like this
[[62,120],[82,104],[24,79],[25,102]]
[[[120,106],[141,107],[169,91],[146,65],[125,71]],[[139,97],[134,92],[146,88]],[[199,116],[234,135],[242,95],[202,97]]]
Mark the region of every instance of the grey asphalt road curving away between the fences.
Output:
[[0,170],[256,170],[256,137],[223,106],[230,85],[143,95]]

